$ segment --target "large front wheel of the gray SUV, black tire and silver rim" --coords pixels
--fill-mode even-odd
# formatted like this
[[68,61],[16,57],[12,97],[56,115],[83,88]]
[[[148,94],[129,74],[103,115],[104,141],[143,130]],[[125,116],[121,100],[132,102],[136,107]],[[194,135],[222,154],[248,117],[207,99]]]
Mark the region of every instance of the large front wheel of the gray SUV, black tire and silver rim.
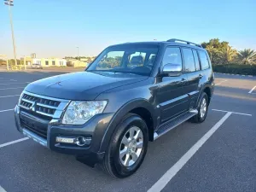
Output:
[[[127,144],[128,148],[127,146],[124,147],[124,141],[129,141],[131,138],[130,133],[132,131],[134,131],[134,138],[137,136],[137,140],[134,139],[132,140],[133,143],[129,143],[130,145]],[[142,141],[143,144],[141,144]],[[140,148],[135,148],[135,146],[139,146]],[[126,151],[125,148],[127,149]],[[142,165],[147,149],[148,127],[145,121],[137,114],[128,113],[113,132],[108,151],[106,151],[104,160],[100,166],[104,172],[107,172],[113,177],[129,177]],[[120,153],[120,151],[125,152]],[[136,157],[135,153],[138,154],[137,160],[135,160],[136,158],[133,158]],[[122,154],[124,154],[124,156],[122,156]],[[127,156],[129,156],[129,158]],[[121,159],[121,157],[123,157],[123,159]],[[134,162],[131,159],[134,160]]]

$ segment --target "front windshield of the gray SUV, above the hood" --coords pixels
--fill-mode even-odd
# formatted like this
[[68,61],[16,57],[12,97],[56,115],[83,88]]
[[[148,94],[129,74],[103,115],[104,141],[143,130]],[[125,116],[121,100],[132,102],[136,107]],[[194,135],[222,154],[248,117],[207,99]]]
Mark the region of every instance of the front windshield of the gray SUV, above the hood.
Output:
[[121,44],[105,49],[86,70],[88,72],[134,73],[149,76],[159,45]]

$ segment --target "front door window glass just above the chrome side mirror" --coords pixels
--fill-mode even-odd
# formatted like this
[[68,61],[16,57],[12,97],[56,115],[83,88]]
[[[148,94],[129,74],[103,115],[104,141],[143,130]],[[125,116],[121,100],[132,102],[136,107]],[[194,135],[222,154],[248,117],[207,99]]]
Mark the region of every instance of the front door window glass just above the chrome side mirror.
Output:
[[167,47],[166,52],[162,61],[162,65],[166,64],[179,64],[181,67],[183,66],[182,57],[180,53],[180,49],[177,47]]

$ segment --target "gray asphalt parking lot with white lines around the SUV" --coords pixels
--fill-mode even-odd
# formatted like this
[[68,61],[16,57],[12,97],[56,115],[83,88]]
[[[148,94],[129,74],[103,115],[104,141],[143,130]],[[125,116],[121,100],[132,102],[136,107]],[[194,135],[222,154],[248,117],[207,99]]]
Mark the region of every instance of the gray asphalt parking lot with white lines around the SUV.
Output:
[[0,192],[256,191],[256,77],[215,74],[206,121],[149,143],[136,174],[114,179],[16,131],[23,88],[56,74],[0,72]]

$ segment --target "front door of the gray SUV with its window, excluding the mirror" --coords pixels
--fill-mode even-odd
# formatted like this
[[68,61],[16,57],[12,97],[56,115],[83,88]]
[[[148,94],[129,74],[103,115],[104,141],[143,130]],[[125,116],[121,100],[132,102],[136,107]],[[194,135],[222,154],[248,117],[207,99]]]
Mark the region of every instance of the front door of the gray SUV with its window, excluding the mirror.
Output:
[[[166,48],[161,65],[164,66],[170,63],[183,66],[180,48]],[[186,83],[187,74],[185,73],[178,77],[162,77],[158,79],[159,92],[157,101],[160,106],[160,124],[188,110],[189,95],[187,90],[184,89]]]

